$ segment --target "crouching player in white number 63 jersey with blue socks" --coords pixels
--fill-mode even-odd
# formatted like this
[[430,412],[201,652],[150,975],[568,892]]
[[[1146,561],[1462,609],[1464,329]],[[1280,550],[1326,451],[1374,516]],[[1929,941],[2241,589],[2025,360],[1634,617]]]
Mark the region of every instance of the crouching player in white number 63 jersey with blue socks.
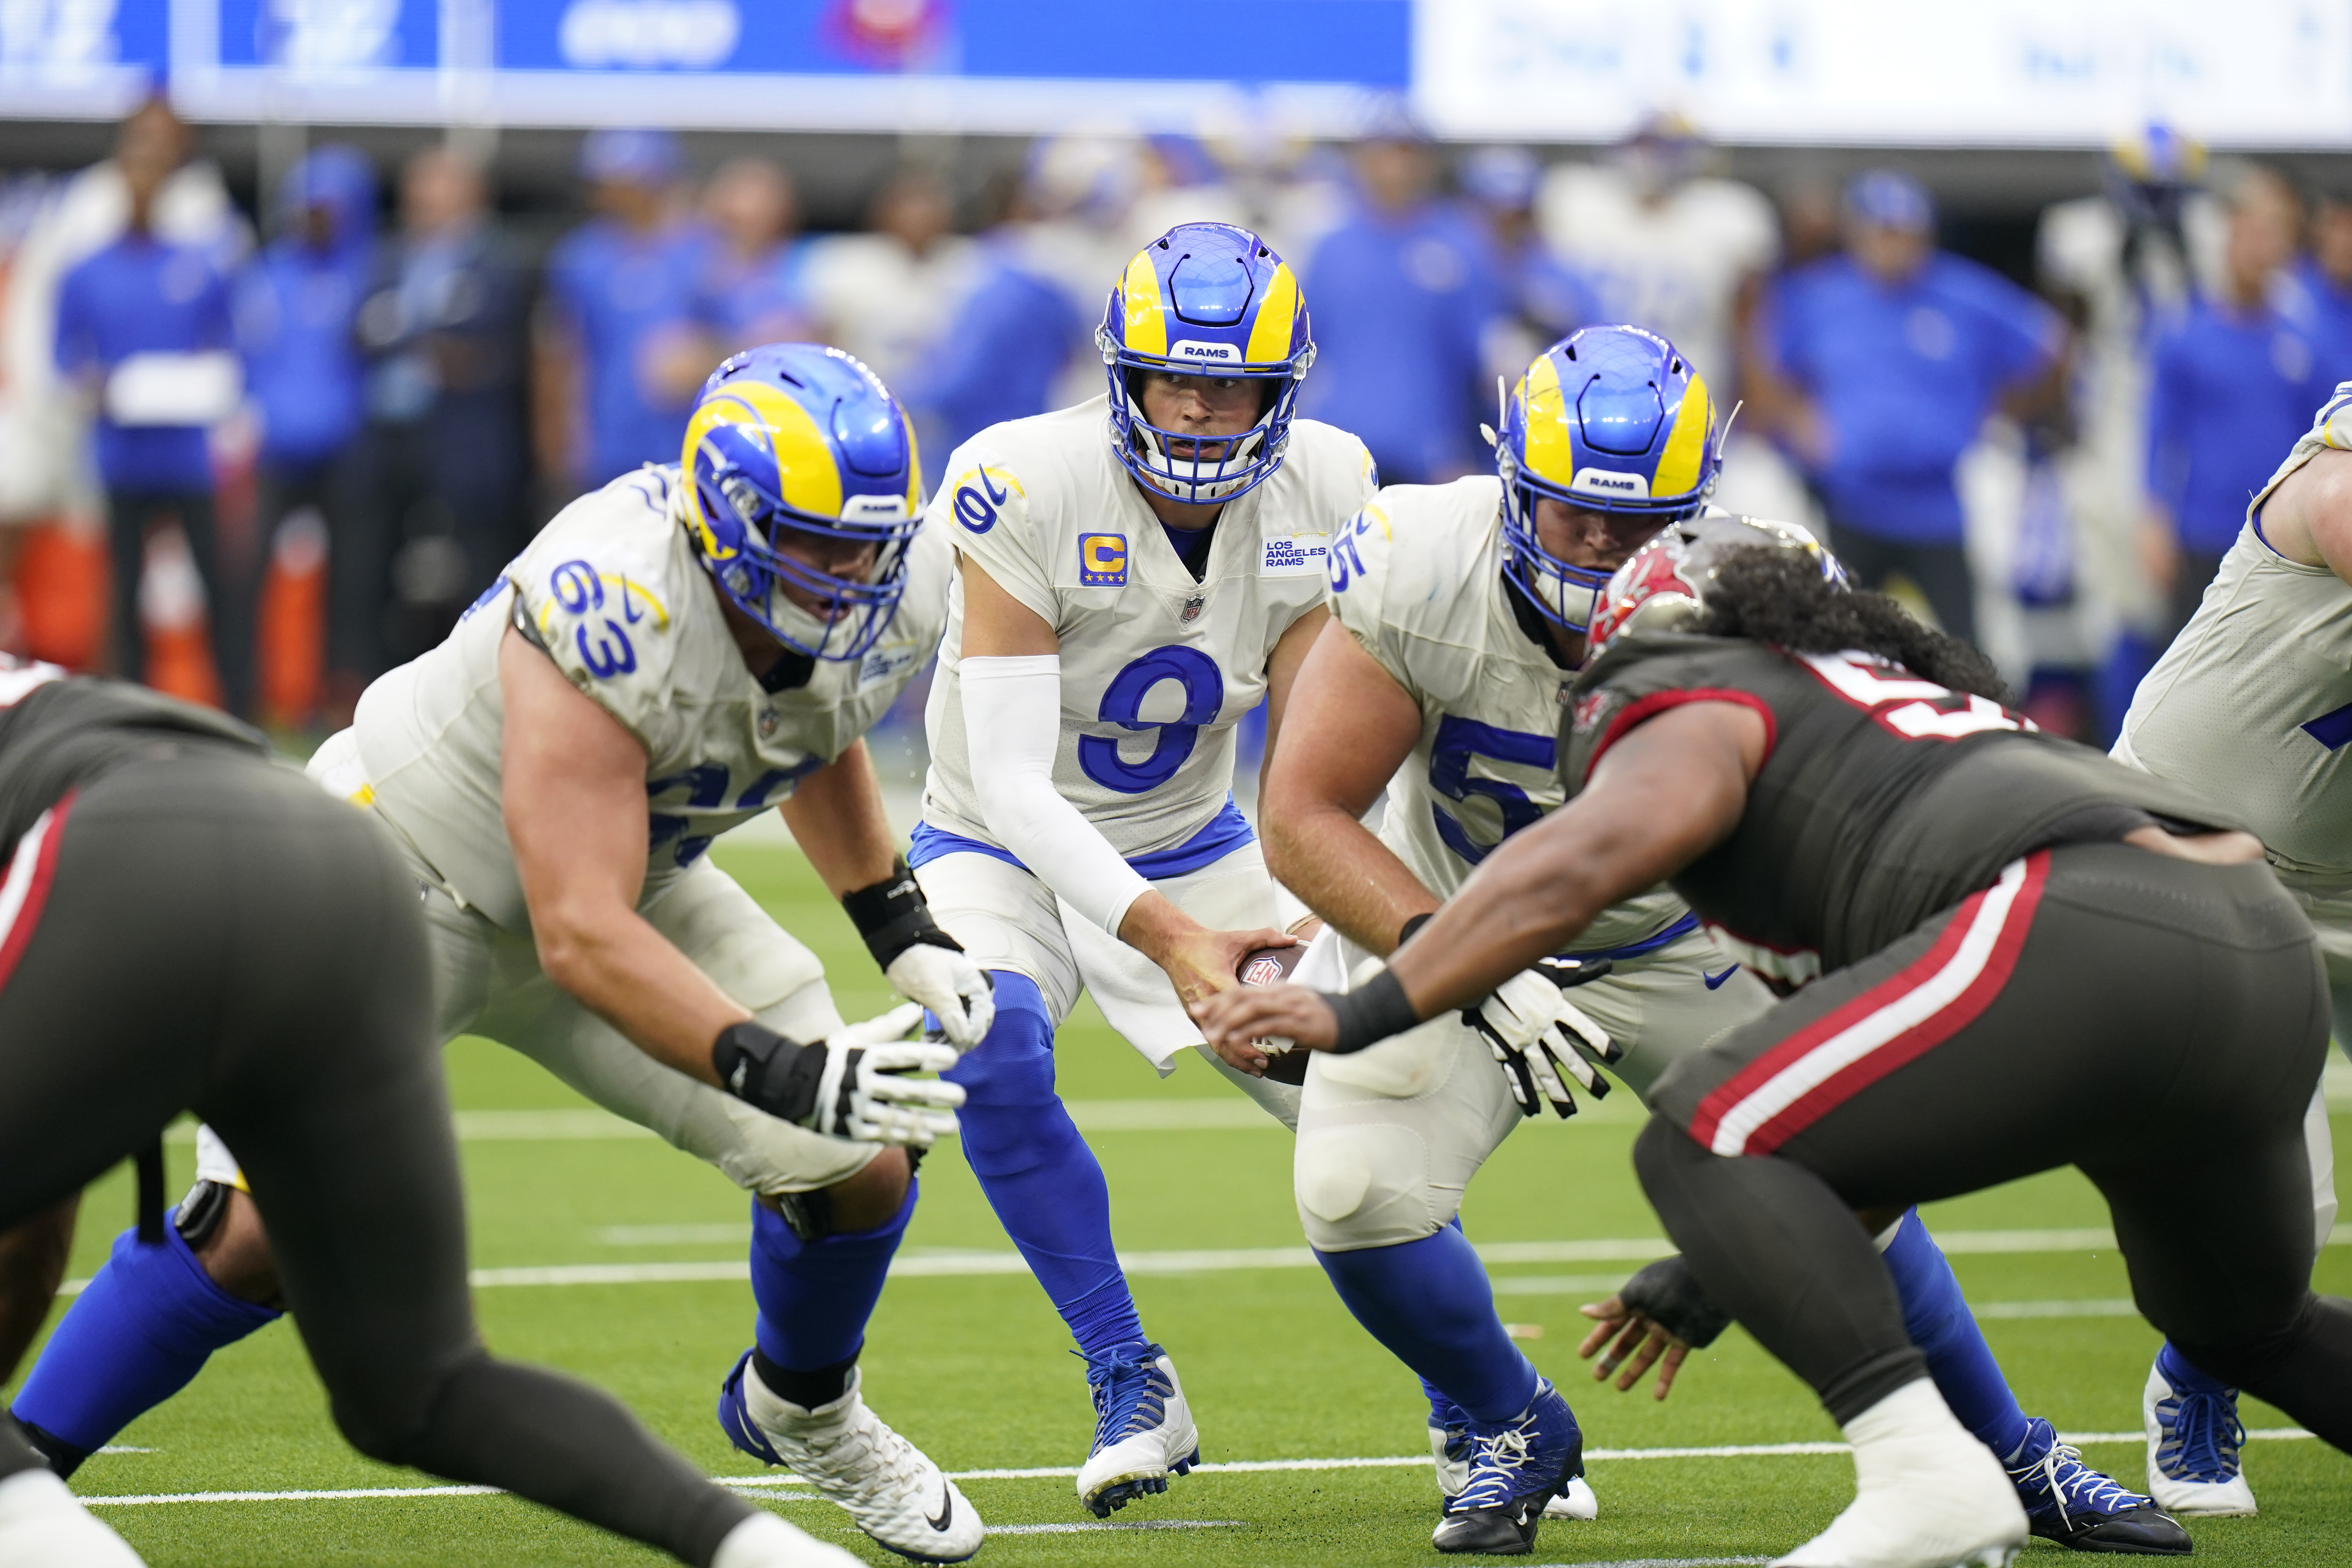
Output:
[[[906,1150],[962,1100],[896,1074],[955,1051],[884,1044],[910,1006],[844,1027],[816,957],[703,858],[779,806],[891,985],[950,1041],[985,1032],[988,983],[906,877],[861,741],[938,639],[948,545],[920,484],[906,411],[863,364],[736,355],[677,468],[564,508],[310,771],[407,851],[440,1039],[501,1039],[753,1190],[760,1321],[720,1399],[729,1439],[894,1552],[960,1561],[978,1516],[866,1408],[856,1368],[915,1206]],[[16,1396],[61,1474],[275,1316],[216,1143],[167,1229],[167,1248],[118,1244]]]

